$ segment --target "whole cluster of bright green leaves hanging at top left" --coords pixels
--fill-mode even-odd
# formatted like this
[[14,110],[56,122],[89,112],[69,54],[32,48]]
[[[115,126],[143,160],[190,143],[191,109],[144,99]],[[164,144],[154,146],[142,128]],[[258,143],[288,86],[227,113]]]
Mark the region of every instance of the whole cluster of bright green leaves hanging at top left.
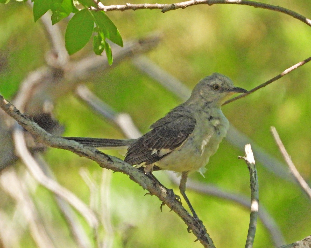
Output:
[[[79,11],[76,7],[80,6],[83,9]],[[104,11],[89,11],[90,7],[97,7],[92,0],[81,0],[79,2],[72,0],[35,0],[33,8],[34,19],[37,21],[48,10],[51,10],[53,25],[67,17],[70,13],[74,13],[75,15],[69,21],[65,34],[66,49],[70,55],[81,50],[90,40],[95,22],[97,27],[95,32],[97,32],[97,35],[93,39],[93,50],[97,55],[101,55],[105,50],[108,62],[111,65],[113,58],[106,38],[123,47],[122,37],[117,27]]]

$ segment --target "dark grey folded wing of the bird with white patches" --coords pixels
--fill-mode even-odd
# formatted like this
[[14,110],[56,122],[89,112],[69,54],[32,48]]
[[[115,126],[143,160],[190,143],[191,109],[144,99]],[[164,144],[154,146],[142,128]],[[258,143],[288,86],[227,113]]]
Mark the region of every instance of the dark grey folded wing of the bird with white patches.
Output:
[[159,161],[183,144],[193,132],[195,123],[195,118],[183,105],[177,106],[128,148],[124,161],[131,165]]

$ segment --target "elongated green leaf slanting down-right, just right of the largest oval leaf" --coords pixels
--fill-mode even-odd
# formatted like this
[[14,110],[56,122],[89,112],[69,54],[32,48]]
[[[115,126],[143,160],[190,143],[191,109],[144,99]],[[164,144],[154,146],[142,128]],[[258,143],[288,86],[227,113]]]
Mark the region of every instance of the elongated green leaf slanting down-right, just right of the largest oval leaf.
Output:
[[105,37],[112,42],[123,47],[123,40],[119,33],[119,30],[114,25],[114,23],[109,19],[109,17],[104,13],[104,11],[92,11],[97,27],[102,30]]

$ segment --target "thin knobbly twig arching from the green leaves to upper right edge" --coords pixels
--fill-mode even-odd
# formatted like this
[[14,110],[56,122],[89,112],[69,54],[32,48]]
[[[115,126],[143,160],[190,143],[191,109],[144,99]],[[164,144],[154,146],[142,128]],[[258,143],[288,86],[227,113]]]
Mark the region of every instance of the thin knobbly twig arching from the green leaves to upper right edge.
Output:
[[[97,2],[97,1],[96,1]],[[99,1],[98,1],[99,2]],[[199,4],[207,4],[209,6],[214,4],[237,4],[237,5],[247,5],[252,6],[255,8],[262,8],[262,9],[268,9],[272,11],[278,11],[286,15],[290,15],[294,17],[295,19],[298,19],[305,24],[309,25],[311,27],[311,20],[304,17],[303,15],[298,14],[295,11],[275,6],[267,3],[262,2],[254,2],[254,1],[247,1],[247,0],[190,0],[185,2],[177,2],[177,3],[171,3],[171,4],[151,4],[151,3],[142,3],[142,4],[131,4],[127,3],[125,5],[109,5],[104,6],[101,4],[97,4],[99,10],[103,11],[124,11],[124,10],[139,10],[139,9],[160,9],[163,13],[170,11],[170,10],[176,10],[179,8],[187,8],[193,5],[199,5]]]

